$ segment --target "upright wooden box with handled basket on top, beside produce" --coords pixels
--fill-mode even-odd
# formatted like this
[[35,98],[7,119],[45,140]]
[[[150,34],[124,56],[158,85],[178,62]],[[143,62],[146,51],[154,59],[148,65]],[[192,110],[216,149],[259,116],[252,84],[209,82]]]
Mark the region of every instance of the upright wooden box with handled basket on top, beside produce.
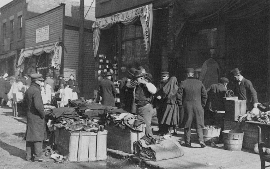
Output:
[[225,119],[237,121],[238,115],[245,114],[247,111],[246,100],[226,100],[225,99]]

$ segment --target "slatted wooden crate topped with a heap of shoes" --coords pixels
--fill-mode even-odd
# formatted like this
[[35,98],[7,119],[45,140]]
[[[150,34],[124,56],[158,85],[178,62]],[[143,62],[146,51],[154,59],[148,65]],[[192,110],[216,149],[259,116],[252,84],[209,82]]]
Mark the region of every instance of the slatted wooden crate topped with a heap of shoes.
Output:
[[103,132],[71,132],[55,129],[55,144],[59,153],[70,162],[91,162],[107,159],[107,130]]

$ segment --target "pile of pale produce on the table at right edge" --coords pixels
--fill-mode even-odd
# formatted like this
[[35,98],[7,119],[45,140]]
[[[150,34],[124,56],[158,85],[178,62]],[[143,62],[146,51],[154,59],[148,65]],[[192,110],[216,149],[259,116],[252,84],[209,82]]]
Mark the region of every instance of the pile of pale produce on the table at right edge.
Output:
[[238,122],[244,121],[258,121],[261,123],[270,124],[270,111],[263,112],[259,110],[258,114],[257,111],[256,113],[254,113],[254,111],[248,111],[247,113],[238,116]]

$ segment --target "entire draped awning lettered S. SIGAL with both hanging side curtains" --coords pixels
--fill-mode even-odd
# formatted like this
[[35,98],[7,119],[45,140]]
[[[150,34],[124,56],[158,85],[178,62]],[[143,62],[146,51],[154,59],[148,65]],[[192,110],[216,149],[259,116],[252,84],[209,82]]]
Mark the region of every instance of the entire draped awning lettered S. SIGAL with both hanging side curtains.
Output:
[[117,13],[113,16],[97,19],[92,26],[92,28],[94,28],[93,34],[94,57],[96,57],[98,53],[101,29],[109,29],[113,24],[119,22],[123,23],[124,25],[133,24],[134,22],[137,21],[139,17],[143,28],[143,37],[146,52],[149,53],[151,47],[152,25],[153,25],[152,7],[153,5],[149,4],[123,13]]

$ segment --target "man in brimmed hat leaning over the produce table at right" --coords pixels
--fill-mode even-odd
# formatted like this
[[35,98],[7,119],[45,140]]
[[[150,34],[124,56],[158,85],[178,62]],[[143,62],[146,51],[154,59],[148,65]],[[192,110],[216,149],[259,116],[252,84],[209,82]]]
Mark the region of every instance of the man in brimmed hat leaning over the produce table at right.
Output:
[[235,80],[232,83],[232,90],[234,95],[238,96],[238,99],[240,100],[247,100],[247,110],[251,110],[253,107],[257,107],[257,92],[253,88],[252,83],[241,75],[241,71],[239,71],[238,68],[231,70],[231,74]]

